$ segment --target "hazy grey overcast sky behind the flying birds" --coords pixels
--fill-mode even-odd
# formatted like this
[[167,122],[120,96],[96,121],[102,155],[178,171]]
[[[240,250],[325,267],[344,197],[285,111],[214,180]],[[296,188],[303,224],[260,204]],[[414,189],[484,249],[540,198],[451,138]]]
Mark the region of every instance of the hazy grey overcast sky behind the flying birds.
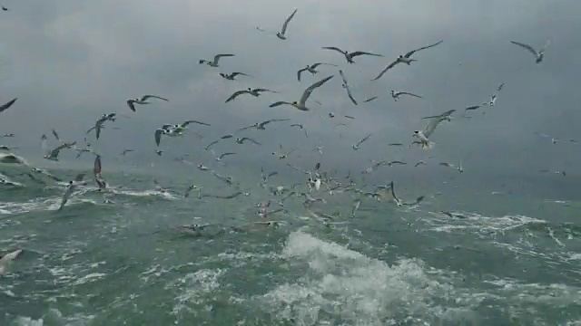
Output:
[[[231,158],[234,162],[271,160],[274,165],[281,162],[271,153],[282,144],[297,149],[289,162],[305,168],[316,161],[365,168],[372,158],[413,165],[435,156],[434,163],[463,159],[467,169],[568,168],[575,173],[581,160],[576,144],[552,145],[534,134],[577,137],[581,2],[576,0],[5,0],[4,5],[9,10],[0,12],[0,101],[18,101],[0,114],[0,134],[14,132],[16,138],[0,143],[21,146],[28,156],[41,156],[41,134],[54,128],[63,139],[81,141],[94,120],[116,111],[130,118],[109,123],[98,141],[90,137],[103,158],[135,149],[135,157],[159,161],[153,131],[164,123],[195,119],[212,124],[191,127],[204,139],[192,134],[162,139],[162,159],[172,161],[187,152],[196,163],[210,164],[212,157],[201,149],[213,139],[257,121],[288,118],[243,134],[261,141],[261,147],[229,139],[215,149],[241,153]],[[279,30],[294,8],[298,13],[287,41],[256,30]],[[540,64],[510,43],[540,48],[547,39],[551,45]],[[399,54],[439,40],[444,42],[415,54],[418,62],[396,66],[370,82]],[[383,57],[361,56],[347,64],[340,53],[321,46]],[[223,59],[220,68],[198,64],[216,53],[236,56]],[[298,82],[296,71],[313,62],[340,65],[356,99],[379,100],[351,104],[335,67],[321,66],[317,75],[304,74]],[[252,77],[231,82],[218,72]],[[295,101],[310,83],[331,74],[335,77],[313,92],[312,110],[269,108],[274,101]],[[506,84],[497,106],[486,108],[485,115],[476,111],[468,120],[458,114],[440,125],[431,137],[434,149],[387,147],[389,142],[409,144],[413,130],[426,123],[423,116],[451,109],[461,113],[487,101],[500,82]],[[281,93],[224,103],[233,91],[248,87]],[[424,100],[394,102],[391,90],[415,92]],[[170,101],[130,111],[125,101],[146,93]],[[327,117],[329,112],[336,118]],[[356,119],[342,118],[346,114]],[[334,127],[338,122],[348,125]],[[309,139],[291,123],[304,124]],[[373,136],[359,151],[350,149],[368,133]],[[324,148],[322,157],[312,151],[317,144]]]

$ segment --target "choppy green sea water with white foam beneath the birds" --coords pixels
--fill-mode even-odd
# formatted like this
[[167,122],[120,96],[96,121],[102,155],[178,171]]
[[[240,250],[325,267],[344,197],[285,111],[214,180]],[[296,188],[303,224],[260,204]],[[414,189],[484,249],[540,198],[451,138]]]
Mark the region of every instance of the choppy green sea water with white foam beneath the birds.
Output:
[[[321,191],[315,206],[346,223],[291,198],[269,216],[285,223],[242,232],[261,220],[258,186],[201,200],[183,197],[183,177],[159,177],[164,191],[109,173],[110,192],[80,187],[57,211],[63,185],[1,168],[22,186],[0,188],[0,254],[25,250],[0,276],[1,325],[581,325],[576,202],[463,191],[412,208],[364,200],[351,218],[349,195]],[[175,228],[192,223],[212,226]]]

